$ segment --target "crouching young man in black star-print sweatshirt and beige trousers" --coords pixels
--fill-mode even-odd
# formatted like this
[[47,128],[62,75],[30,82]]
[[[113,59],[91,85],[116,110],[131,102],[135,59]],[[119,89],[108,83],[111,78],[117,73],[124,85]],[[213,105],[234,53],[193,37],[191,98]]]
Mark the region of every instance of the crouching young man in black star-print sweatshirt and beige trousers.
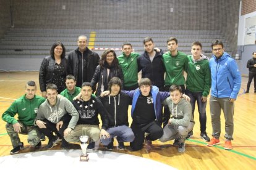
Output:
[[[90,144],[87,148],[88,150],[93,150],[95,141],[100,140],[101,136],[109,138],[109,134],[106,132],[108,116],[100,100],[92,95],[91,83],[85,82],[82,84],[81,94],[82,101],[76,99],[72,102],[79,112],[79,121],[75,128],[64,138],[67,142],[80,142],[79,137],[87,135],[90,137]],[[99,114],[102,121],[101,129],[99,127]]]

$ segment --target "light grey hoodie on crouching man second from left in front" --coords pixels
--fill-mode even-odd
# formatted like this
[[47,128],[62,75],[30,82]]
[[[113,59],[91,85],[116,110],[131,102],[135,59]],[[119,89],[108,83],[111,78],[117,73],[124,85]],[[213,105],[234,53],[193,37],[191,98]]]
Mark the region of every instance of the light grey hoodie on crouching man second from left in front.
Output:
[[79,113],[73,104],[66,99],[66,97],[60,97],[58,95],[56,105],[53,107],[49,105],[48,99],[46,99],[45,102],[40,105],[36,119],[48,119],[48,121],[51,121],[52,123],[58,123],[62,116],[66,115],[67,113],[72,116],[68,127],[74,129],[79,119]]

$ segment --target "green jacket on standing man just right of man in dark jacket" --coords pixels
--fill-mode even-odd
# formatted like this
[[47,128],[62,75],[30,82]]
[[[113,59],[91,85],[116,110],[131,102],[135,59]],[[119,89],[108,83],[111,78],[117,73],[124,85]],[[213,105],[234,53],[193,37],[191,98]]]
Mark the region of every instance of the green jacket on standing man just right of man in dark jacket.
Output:
[[163,54],[163,61],[166,70],[164,85],[184,85],[186,81],[183,71],[187,65],[187,55],[178,51],[176,56],[171,56],[171,52],[168,51]]

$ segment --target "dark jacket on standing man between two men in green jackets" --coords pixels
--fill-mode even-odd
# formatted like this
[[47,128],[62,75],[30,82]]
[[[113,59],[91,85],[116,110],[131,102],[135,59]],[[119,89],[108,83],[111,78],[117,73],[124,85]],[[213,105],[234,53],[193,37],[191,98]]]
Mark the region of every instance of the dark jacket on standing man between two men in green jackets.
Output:
[[149,78],[154,86],[162,90],[164,86],[164,64],[162,60],[163,52],[156,52],[151,62],[148,53],[144,52],[138,57],[138,71],[142,70],[142,78]]

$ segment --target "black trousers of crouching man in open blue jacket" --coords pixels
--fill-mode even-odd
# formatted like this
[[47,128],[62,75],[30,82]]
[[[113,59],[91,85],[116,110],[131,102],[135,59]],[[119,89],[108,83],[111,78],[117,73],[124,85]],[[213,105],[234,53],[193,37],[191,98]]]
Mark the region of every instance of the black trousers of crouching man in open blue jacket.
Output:
[[133,121],[130,128],[132,128],[135,136],[134,141],[130,142],[132,150],[142,149],[145,140],[145,132],[149,133],[146,139],[151,141],[160,139],[160,137],[163,136],[163,129],[155,121],[147,124],[137,124]]

